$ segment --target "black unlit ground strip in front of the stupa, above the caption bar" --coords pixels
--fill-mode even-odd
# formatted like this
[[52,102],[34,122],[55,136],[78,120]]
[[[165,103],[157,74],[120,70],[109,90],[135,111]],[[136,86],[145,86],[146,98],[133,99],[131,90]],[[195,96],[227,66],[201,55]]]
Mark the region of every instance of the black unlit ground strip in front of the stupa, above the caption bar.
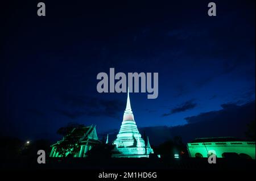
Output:
[[1,169],[83,169],[83,170],[255,170],[253,159],[217,158],[209,164],[207,158],[48,158],[39,164],[36,158],[2,159]]

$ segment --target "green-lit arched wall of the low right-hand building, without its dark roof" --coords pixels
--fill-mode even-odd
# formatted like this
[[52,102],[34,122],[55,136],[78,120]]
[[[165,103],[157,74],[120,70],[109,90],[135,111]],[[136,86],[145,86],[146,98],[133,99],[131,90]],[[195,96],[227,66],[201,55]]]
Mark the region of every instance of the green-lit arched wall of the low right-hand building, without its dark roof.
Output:
[[210,152],[215,151],[217,158],[222,158],[223,153],[237,153],[238,155],[246,154],[255,159],[255,142],[193,142],[188,143],[187,148],[190,157],[196,157],[197,153],[208,157]]

